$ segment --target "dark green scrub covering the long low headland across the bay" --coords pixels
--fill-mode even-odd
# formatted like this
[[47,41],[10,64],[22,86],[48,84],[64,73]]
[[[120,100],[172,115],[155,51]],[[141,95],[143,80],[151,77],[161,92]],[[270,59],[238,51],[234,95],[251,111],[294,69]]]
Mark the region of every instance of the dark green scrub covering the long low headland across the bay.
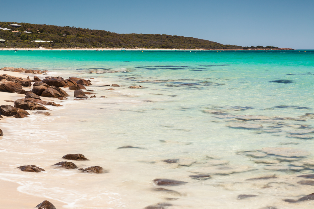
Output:
[[[19,24],[21,27],[10,27]],[[29,23],[0,22],[0,48],[159,48],[159,49],[249,49],[236,45],[166,34],[116,34],[106,30],[91,30],[70,26],[39,25]],[[13,33],[12,31],[18,30]],[[25,31],[30,33],[24,33]],[[31,42],[33,40],[51,43]],[[262,47],[261,47],[262,48]],[[264,48],[264,47],[263,47]],[[278,48],[278,47],[277,47]]]

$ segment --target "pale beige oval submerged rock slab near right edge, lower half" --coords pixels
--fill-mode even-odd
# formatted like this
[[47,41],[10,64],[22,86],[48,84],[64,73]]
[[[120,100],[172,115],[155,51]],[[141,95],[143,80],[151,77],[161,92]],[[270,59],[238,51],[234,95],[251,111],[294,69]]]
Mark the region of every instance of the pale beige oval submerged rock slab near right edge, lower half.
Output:
[[308,151],[305,151],[305,150],[293,149],[293,148],[287,148],[287,147],[266,147],[259,151],[262,151],[270,155],[277,155],[277,156],[288,157],[288,158],[303,158],[310,154]]

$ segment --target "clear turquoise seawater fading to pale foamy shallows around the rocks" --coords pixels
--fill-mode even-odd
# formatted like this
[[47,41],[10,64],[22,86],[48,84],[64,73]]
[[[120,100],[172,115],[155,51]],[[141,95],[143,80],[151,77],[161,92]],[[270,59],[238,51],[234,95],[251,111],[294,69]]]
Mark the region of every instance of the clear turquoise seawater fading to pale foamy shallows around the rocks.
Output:
[[[62,201],[66,208],[144,208],[160,202],[172,204],[170,209],[313,204],[283,199],[313,191],[300,182],[308,179],[297,176],[313,173],[314,134],[294,133],[313,128],[313,117],[306,113],[314,113],[314,51],[0,51],[0,58],[0,67],[95,78],[88,89],[97,98],[69,97],[59,102],[62,107],[49,106],[52,116],[0,121],[7,133],[0,140],[0,178],[21,184],[20,192]],[[269,82],[276,80],[291,82]],[[106,84],[120,87],[100,87]],[[247,115],[266,118],[249,120]],[[258,128],[230,127],[243,123]],[[143,149],[117,149],[126,145]],[[297,154],[263,149],[274,147],[297,149],[292,150]],[[50,166],[68,153],[89,159],[74,162],[79,168],[99,165],[108,173]],[[165,159],[179,161],[168,164]],[[46,172],[14,169],[21,165]],[[211,178],[190,177],[196,174]],[[247,180],[273,175],[277,178]],[[162,187],[152,181],[158,178],[188,183],[163,187],[178,193],[154,191]],[[238,199],[243,194],[256,196]]]

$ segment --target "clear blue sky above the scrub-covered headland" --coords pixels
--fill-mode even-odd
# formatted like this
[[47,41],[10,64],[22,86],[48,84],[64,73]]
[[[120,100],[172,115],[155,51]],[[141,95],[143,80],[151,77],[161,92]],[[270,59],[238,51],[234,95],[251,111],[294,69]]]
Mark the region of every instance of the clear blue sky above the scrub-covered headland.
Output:
[[0,21],[314,49],[314,0],[15,0]]

